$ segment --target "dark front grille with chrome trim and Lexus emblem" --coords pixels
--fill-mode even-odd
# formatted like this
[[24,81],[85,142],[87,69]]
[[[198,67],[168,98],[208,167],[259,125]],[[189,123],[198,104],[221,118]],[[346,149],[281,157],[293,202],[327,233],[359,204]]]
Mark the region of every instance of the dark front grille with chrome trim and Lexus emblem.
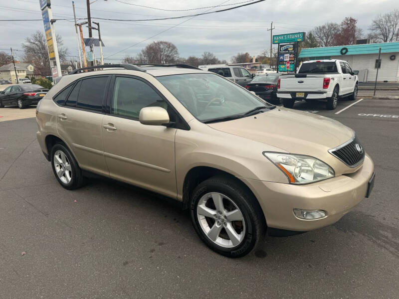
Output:
[[350,167],[359,165],[365,158],[366,154],[356,136],[349,142],[346,142],[335,149],[330,149],[329,152]]

